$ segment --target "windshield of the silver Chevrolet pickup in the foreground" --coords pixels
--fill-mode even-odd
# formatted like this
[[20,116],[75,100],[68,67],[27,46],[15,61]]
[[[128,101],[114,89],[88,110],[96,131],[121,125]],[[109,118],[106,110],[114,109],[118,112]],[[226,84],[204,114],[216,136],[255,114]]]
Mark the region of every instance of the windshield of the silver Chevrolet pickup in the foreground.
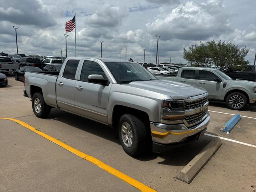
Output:
[[157,80],[148,70],[137,63],[105,62],[118,84],[132,81]]

